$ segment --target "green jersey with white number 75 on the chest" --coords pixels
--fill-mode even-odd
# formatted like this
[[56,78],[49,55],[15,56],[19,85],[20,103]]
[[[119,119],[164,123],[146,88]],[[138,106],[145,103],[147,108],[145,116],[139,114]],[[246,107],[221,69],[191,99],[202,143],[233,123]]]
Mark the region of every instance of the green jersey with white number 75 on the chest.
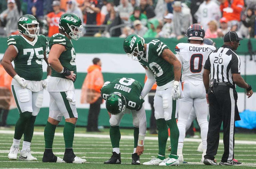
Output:
[[47,46],[46,37],[38,35],[30,42],[22,35],[11,35],[7,39],[7,45],[13,45],[18,53],[13,60],[16,73],[28,81],[41,81],[42,62]]

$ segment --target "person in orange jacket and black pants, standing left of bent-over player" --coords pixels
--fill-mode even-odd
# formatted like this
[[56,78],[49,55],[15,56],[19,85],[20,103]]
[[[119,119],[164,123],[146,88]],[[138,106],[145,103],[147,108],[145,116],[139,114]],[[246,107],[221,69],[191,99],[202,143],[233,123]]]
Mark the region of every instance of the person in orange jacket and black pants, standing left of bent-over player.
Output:
[[89,66],[82,86],[81,103],[90,103],[87,131],[99,132],[98,116],[100,104],[102,103],[100,89],[104,84],[104,80],[101,73],[101,60],[94,58],[92,62],[93,65]]

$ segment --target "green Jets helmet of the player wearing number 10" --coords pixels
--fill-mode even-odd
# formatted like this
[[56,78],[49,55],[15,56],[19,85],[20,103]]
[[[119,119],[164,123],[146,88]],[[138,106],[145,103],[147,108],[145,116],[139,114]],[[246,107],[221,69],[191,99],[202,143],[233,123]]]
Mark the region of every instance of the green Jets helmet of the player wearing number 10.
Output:
[[144,38],[139,35],[128,35],[123,43],[124,51],[132,60],[140,61],[144,55],[144,43]]

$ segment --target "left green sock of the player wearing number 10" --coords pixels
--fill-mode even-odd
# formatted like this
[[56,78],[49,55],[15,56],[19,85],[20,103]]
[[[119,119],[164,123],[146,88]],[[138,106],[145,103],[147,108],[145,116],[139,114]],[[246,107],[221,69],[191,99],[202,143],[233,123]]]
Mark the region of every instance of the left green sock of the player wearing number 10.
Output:
[[166,141],[168,139],[168,128],[164,118],[157,119],[156,125],[158,128],[158,154],[165,156]]

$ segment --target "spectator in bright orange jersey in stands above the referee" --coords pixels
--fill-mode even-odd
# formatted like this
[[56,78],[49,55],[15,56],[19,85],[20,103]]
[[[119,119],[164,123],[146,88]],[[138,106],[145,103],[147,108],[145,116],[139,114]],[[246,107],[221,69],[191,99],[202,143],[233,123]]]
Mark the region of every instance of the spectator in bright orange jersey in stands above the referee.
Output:
[[244,0],[221,0],[220,11],[228,21],[240,21]]

